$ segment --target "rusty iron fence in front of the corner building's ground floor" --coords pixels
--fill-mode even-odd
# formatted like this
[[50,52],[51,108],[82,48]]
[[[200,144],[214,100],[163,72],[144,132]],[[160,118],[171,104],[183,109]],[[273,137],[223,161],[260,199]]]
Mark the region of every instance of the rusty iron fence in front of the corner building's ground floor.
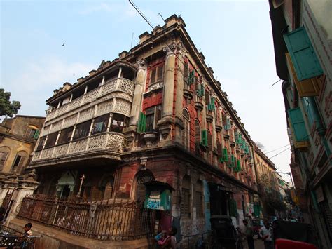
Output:
[[103,241],[149,238],[153,236],[155,224],[154,210],[123,199],[88,203],[62,201],[52,196],[26,196],[18,217]]

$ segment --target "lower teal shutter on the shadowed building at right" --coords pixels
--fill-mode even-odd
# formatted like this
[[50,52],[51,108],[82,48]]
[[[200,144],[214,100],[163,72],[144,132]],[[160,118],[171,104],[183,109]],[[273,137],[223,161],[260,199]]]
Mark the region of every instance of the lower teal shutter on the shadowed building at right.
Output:
[[300,107],[288,110],[289,118],[291,119],[291,126],[295,133],[296,141],[307,141],[307,129],[303,121],[303,116]]

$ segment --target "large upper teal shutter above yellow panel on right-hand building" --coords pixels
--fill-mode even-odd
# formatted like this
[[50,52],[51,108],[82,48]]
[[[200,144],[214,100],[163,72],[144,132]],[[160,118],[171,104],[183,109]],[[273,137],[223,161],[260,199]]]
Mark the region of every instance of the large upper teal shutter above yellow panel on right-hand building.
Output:
[[311,79],[323,74],[321,65],[304,27],[284,34],[284,40],[291,55],[291,61],[298,76],[298,81]]

